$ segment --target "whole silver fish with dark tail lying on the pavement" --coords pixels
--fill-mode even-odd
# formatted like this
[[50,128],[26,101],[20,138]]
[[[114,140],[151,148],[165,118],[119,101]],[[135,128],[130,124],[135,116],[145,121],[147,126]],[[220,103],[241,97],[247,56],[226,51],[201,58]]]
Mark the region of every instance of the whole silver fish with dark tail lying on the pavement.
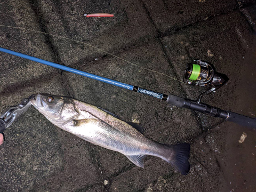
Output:
[[137,123],[121,118],[101,107],[70,97],[35,94],[31,104],[51,123],[77,137],[125,155],[132,163],[144,167],[146,156],[156,156],[170,163],[183,175],[188,174],[190,145],[166,145],[142,134]]

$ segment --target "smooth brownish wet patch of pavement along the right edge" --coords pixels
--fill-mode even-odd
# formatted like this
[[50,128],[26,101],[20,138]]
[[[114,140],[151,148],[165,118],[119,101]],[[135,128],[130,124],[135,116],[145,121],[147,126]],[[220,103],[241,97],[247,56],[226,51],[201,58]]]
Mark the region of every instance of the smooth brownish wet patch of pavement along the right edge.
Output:
[[[255,85],[255,53],[253,50],[244,57],[243,79],[236,87],[239,101],[234,103],[237,113],[253,118],[256,114],[256,87],[251,86],[251,82]],[[225,122],[220,129],[227,129],[225,156],[223,162],[220,161],[226,189],[220,191],[256,191],[256,130],[231,122]]]

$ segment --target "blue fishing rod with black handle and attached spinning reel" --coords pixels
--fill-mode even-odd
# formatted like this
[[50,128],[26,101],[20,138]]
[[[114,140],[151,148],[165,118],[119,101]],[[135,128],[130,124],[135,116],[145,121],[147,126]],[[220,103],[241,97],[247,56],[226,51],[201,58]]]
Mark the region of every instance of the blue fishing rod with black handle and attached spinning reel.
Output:
[[210,63],[203,62],[201,60],[194,60],[194,63],[190,63],[187,66],[187,68],[185,70],[184,81],[188,85],[210,86],[210,89],[207,90],[206,92],[202,93],[201,95],[199,95],[197,101],[193,101],[193,100],[178,97],[173,94],[167,95],[167,94],[143,89],[138,86],[121,83],[121,82],[114,81],[109,78],[105,78],[105,77],[101,77],[101,76],[94,75],[91,73],[87,73],[85,71],[77,70],[77,69],[63,66],[63,65],[60,65],[60,64],[57,64],[54,62],[31,57],[31,56],[23,54],[23,53],[4,49],[2,47],[0,47],[0,51],[4,52],[4,53],[16,55],[18,57],[25,58],[25,59],[28,59],[31,61],[39,62],[44,65],[55,67],[55,68],[58,68],[61,70],[69,71],[69,72],[77,74],[77,75],[82,75],[82,76],[89,77],[89,78],[92,78],[92,79],[95,79],[95,80],[98,80],[101,82],[105,82],[105,83],[108,83],[111,85],[122,87],[123,89],[146,94],[148,96],[164,100],[173,106],[183,107],[183,108],[187,108],[187,109],[193,109],[193,110],[199,111],[203,114],[208,114],[213,117],[219,117],[219,118],[225,119],[226,121],[234,122],[239,125],[248,126],[252,129],[256,128],[256,119],[254,119],[254,118],[247,117],[247,116],[244,116],[241,114],[236,114],[232,111],[222,110],[217,107],[213,107],[213,106],[210,106],[210,105],[207,105],[207,104],[201,102],[202,97],[204,95],[209,94],[209,93],[219,89],[221,86],[223,86],[228,81],[228,78],[226,75],[217,73],[215,71],[214,67]]

